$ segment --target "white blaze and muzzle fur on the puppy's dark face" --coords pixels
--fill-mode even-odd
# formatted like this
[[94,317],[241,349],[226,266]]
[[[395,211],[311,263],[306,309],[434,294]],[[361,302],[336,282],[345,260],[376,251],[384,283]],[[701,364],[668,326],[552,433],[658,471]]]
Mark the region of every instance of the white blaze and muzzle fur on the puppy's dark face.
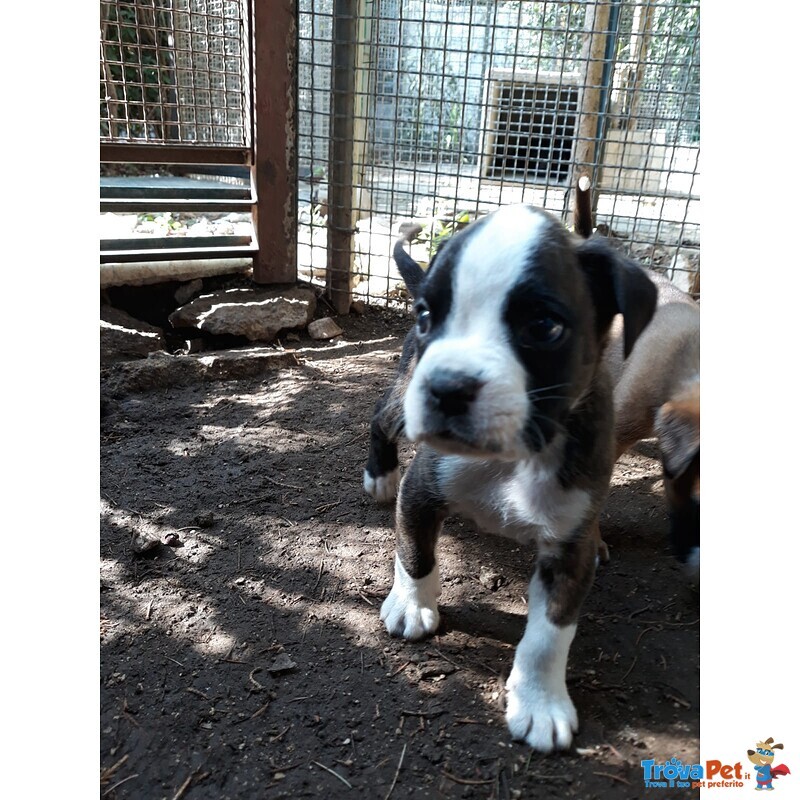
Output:
[[425,350],[406,393],[406,434],[412,441],[436,433],[427,420],[428,383],[437,371],[447,370],[484,384],[470,410],[472,444],[499,457],[524,454],[526,373],[509,340],[503,310],[548,224],[545,215],[529,207],[508,206],[495,212],[459,253],[443,332]]

